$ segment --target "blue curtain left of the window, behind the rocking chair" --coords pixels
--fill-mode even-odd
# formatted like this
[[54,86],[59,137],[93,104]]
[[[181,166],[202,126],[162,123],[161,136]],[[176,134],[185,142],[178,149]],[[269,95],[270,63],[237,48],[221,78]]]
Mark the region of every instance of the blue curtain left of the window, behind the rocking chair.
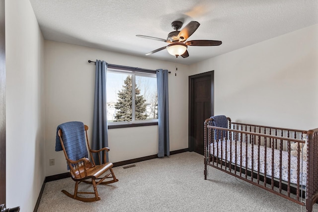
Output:
[[[94,113],[92,129],[92,149],[97,150],[108,147],[108,129],[106,112],[106,71],[107,63],[96,60],[95,63],[95,94]],[[101,155],[102,156],[102,155]],[[98,155],[94,155],[94,160],[98,162]],[[108,161],[108,154],[107,154]]]

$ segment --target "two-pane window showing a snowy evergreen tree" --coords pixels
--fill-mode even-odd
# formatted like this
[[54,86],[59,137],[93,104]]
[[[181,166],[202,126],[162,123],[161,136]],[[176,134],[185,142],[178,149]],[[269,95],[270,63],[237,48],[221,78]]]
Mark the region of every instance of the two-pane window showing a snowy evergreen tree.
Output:
[[108,68],[106,84],[109,126],[150,122],[157,124],[158,94],[155,73]]

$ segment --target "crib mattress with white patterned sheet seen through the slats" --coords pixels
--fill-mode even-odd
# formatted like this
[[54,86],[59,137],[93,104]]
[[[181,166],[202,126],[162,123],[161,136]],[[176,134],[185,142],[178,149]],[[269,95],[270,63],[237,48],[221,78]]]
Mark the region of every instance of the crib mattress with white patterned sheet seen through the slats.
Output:
[[[217,148],[218,143],[218,148]],[[241,164],[242,167],[246,168],[246,145],[245,142],[242,143],[242,150],[240,149],[240,142],[232,141],[232,158],[230,160],[231,145],[230,141],[215,141],[214,142],[214,156],[221,158],[221,143],[222,143],[222,159],[231,161],[235,163],[235,146],[237,145],[237,162],[236,164]],[[227,144],[227,158],[226,151]],[[258,145],[254,145],[252,149],[252,144],[247,144],[247,168],[252,168],[252,150],[253,150],[253,170],[257,172],[258,170]],[[217,154],[218,152],[218,154]],[[272,176],[272,148],[266,147],[266,175]],[[213,154],[213,143],[211,143],[210,153]],[[240,158],[240,154],[242,157]],[[265,174],[265,146],[260,146],[259,148],[259,172]],[[240,161],[240,159],[242,161]],[[280,175],[280,150],[274,149],[274,178],[279,179]],[[288,182],[288,152],[282,151],[282,180]],[[300,185],[306,186],[307,180],[307,162],[300,159]],[[291,167],[290,167],[290,182],[297,184],[297,157],[291,156]]]

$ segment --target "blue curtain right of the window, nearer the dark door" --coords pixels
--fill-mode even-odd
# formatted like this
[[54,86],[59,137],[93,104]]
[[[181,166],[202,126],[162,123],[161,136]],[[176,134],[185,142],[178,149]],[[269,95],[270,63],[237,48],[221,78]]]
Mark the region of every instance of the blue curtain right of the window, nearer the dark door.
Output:
[[158,157],[163,157],[164,155],[170,155],[168,70],[159,69],[156,73],[158,88]]

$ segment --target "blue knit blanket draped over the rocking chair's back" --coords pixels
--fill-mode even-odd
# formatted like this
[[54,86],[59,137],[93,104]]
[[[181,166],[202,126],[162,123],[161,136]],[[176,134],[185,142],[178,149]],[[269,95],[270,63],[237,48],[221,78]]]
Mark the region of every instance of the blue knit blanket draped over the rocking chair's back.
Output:
[[[79,160],[83,157],[88,157],[85,129],[82,122],[66,122],[60,124],[56,129],[55,151],[63,150],[59,130],[62,130],[63,144],[68,157],[71,160]],[[70,167],[68,166],[68,169]]]

